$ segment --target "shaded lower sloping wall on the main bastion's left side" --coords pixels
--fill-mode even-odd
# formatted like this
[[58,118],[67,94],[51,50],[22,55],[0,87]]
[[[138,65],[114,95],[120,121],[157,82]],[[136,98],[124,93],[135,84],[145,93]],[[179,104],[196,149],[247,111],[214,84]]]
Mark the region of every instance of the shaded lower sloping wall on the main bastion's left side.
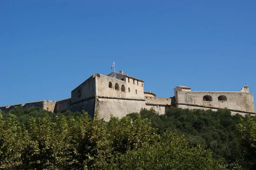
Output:
[[69,109],[71,112],[82,112],[84,110],[85,112],[88,112],[90,116],[94,117],[95,98],[71,104]]

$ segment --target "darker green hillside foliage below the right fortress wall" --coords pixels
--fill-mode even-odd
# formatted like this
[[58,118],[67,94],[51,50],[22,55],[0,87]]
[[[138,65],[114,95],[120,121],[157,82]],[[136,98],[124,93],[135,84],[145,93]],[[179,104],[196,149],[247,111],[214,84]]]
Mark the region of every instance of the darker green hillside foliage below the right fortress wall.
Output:
[[[129,114],[132,118],[136,113]],[[256,118],[247,115],[231,115],[228,109],[189,110],[171,107],[165,115],[154,109],[142,109],[142,118],[151,120],[158,134],[166,130],[184,134],[189,144],[203,145],[212,151],[213,158],[224,158],[230,169],[252,169],[256,167]]]

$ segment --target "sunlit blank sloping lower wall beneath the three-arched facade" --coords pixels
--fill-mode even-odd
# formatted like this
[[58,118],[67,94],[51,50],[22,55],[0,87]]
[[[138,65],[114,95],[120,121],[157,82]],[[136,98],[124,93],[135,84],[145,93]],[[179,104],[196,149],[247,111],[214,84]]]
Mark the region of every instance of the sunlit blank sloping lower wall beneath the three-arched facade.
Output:
[[95,110],[99,112],[99,118],[109,121],[110,115],[115,117],[125,117],[132,112],[140,112],[140,109],[145,108],[144,101],[108,99],[96,97]]

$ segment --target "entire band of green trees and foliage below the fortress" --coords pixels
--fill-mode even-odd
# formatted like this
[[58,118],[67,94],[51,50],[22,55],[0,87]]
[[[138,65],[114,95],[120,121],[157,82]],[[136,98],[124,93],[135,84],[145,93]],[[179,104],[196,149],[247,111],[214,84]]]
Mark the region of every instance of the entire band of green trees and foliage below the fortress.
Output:
[[142,109],[105,122],[39,107],[0,112],[0,169],[256,169],[256,118]]

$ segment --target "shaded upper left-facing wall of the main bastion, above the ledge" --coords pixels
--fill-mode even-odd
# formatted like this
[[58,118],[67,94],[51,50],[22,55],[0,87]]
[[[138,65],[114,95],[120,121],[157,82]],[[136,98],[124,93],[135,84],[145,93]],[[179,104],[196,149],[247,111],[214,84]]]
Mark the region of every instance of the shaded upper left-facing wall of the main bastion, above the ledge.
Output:
[[76,89],[73,89],[71,92],[71,103],[77,103],[87,98],[92,98],[96,96],[96,84],[95,78],[100,76],[99,74],[94,74],[82,84],[80,84]]

